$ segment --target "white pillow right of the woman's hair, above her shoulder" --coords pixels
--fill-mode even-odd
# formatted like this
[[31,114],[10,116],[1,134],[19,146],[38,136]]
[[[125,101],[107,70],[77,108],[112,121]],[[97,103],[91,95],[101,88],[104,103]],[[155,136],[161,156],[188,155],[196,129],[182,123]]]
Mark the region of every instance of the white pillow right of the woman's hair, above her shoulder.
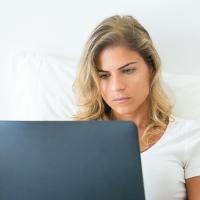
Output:
[[200,120],[200,76],[163,73],[163,79],[175,101],[174,115]]

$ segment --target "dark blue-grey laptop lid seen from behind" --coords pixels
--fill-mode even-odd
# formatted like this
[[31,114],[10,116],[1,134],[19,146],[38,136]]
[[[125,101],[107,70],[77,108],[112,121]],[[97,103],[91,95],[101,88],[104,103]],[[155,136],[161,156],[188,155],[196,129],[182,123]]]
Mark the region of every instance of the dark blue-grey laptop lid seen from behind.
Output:
[[144,200],[137,127],[1,121],[1,200]]

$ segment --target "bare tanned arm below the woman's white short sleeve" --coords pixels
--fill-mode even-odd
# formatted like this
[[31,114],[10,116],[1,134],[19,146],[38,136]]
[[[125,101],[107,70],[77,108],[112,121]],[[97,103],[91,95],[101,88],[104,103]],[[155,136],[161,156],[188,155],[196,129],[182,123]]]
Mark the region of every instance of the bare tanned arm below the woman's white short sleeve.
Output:
[[188,200],[200,200],[200,176],[186,179]]

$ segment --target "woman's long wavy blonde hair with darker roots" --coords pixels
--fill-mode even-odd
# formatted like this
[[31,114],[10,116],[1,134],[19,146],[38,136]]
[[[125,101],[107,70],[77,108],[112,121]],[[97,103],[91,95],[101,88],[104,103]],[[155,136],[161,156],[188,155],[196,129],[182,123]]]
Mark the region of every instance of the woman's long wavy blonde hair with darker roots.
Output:
[[103,20],[91,33],[83,50],[73,89],[79,112],[75,120],[109,120],[111,108],[101,97],[97,76],[97,57],[105,48],[125,46],[136,51],[152,69],[150,86],[151,123],[145,128],[143,141],[148,143],[152,128],[166,128],[172,104],[160,83],[160,58],[145,28],[132,16],[115,15]]

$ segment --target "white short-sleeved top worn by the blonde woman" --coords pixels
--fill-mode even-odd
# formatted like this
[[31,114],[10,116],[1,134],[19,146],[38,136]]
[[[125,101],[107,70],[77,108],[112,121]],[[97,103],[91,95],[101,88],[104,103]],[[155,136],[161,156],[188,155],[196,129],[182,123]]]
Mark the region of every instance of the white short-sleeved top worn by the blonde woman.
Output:
[[185,179],[200,176],[200,125],[175,118],[141,161],[146,200],[186,199]]

